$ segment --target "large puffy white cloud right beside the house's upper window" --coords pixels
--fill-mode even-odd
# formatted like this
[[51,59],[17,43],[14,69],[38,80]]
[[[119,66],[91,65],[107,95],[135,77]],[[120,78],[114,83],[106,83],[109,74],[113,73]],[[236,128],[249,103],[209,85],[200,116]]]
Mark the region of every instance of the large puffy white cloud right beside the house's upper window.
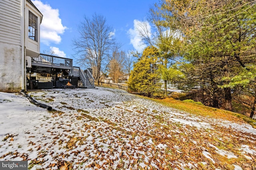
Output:
[[64,33],[67,27],[61,23],[59,10],[52,9],[49,4],[43,4],[40,0],[32,0],[32,2],[43,14],[43,20],[40,25],[40,41],[45,45],[60,43],[60,34]]

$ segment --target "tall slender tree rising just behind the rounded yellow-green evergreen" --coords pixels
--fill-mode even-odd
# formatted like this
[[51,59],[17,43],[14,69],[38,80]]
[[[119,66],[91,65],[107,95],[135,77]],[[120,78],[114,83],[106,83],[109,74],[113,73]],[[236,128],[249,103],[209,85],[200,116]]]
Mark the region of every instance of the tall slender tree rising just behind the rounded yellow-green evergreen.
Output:
[[[168,14],[166,14],[168,15]],[[151,29],[148,29],[148,21],[151,23]],[[150,8],[148,21],[143,21],[138,24],[137,31],[139,32],[142,41],[151,46],[155,46],[160,51],[160,58],[162,68],[166,71],[176,63],[180,57],[180,38],[175,25],[168,22],[168,20],[161,14],[161,8],[157,5]],[[154,33],[152,33],[153,31]],[[172,81],[162,78],[164,81],[164,95],[167,96],[167,81]]]

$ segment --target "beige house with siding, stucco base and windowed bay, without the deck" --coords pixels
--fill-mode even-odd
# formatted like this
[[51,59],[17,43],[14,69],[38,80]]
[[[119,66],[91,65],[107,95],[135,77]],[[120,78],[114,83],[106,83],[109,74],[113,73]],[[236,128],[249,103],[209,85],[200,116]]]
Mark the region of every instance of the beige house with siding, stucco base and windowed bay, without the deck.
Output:
[[0,0],[0,91],[26,90],[26,65],[40,55],[42,17],[31,0]]

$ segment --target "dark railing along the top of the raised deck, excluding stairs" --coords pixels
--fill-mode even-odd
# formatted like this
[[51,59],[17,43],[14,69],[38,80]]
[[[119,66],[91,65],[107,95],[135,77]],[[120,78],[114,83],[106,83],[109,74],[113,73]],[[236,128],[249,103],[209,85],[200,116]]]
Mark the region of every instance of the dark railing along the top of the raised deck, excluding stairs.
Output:
[[52,55],[40,54],[38,58],[32,58],[32,62],[43,63],[43,64],[53,64],[59,66],[73,66],[73,59],[67,59]]

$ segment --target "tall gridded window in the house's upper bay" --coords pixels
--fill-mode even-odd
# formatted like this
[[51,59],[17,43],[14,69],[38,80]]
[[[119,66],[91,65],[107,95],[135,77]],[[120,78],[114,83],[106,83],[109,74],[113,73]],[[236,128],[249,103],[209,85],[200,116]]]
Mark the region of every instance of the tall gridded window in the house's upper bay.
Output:
[[37,41],[37,16],[30,11],[28,14],[28,38]]

